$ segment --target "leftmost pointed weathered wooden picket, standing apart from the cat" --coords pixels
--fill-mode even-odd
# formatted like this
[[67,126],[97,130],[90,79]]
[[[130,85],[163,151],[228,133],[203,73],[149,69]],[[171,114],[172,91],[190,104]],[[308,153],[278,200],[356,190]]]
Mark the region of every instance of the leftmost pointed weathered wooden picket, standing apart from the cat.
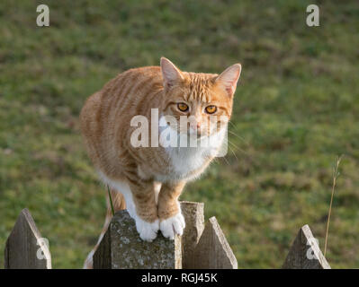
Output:
[[5,244],[5,269],[50,269],[49,248],[29,210],[23,209]]

